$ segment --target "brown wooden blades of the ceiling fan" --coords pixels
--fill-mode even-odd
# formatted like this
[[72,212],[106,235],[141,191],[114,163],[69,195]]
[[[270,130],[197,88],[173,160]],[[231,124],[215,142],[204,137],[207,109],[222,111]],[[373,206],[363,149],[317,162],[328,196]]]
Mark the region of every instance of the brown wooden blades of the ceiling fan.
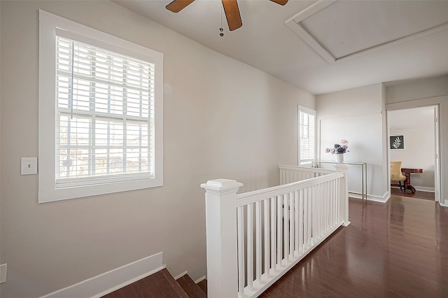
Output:
[[[179,13],[179,11],[183,10],[183,8],[186,8],[190,3],[193,3],[195,0],[174,0],[171,3],[169,3],[165,8],[167,10],[172,11],[173,13]],[[229,30],[233,31],[235,29],[238,29],[243,25],[243,22],[241,21],[241,15],[239,15],[239,8],[237,0],[222,0],[223,1],[223,7],[225,12],[225,17],[227,18],[227,23],[229,25]],[[285,5],[288,3],[288,0],[269,0],[274,3]]]

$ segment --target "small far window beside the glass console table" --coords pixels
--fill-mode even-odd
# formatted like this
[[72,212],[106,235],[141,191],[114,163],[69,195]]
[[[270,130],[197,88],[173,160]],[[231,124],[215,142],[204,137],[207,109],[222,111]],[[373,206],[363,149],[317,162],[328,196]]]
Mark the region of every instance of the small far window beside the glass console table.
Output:
[[316,111],[299,106],[299,164],[309,164],[316,158]]

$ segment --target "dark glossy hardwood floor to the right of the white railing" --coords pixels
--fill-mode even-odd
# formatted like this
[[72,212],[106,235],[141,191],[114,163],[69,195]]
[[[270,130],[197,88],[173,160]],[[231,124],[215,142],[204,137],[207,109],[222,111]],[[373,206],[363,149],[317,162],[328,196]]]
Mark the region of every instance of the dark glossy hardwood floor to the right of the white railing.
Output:
[[350,199],[340,227],[260,297],[448,297],[448,208]]

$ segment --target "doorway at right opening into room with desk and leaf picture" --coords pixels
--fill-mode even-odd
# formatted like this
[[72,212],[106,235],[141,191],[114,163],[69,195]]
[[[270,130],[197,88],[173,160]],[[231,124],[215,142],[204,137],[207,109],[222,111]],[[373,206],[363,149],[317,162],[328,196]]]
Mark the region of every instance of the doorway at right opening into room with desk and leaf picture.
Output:
[[391,187],[391,194],[440,201],[438,106],[403,108],[387,115],[388,164],[401,161],[402,168],[409,169],[411,185],[404,194]]

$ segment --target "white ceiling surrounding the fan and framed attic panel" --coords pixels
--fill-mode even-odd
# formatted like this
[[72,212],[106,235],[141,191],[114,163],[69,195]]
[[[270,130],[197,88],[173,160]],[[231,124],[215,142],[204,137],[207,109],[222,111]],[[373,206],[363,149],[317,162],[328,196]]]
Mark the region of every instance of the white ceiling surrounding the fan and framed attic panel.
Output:
[[300,22],[311,38],[337,57],[361,51],[334,63],[286,25],[316,1],[238,0],[243,26],[229,31],[223,17],[223,37],[221,1],[195,0],[179,13],[165,9],[170,1],[114,2],[313,94],[448,74],[448,0],[339,0],[318,10]]

